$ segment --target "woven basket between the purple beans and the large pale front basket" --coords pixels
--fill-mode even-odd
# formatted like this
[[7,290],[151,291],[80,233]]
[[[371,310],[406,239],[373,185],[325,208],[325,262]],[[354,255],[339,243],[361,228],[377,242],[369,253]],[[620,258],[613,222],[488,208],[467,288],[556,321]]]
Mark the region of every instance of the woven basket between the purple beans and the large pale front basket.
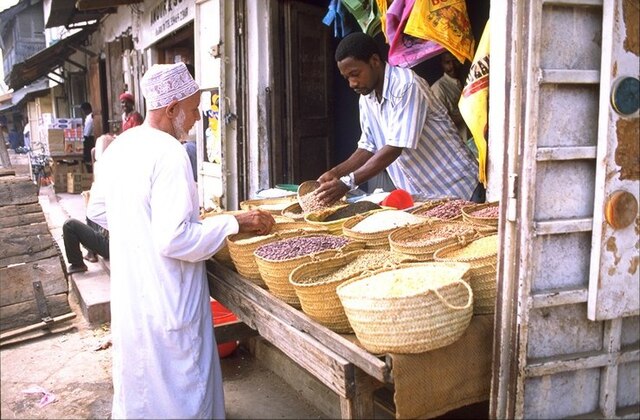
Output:
[[[358,271],[345,272],[342,270],[350,263],[356,262],[359,257],[371,259],[370,264],[363,265]],[[336,294],[336,287],[363,272],[380,269],[386,264],[393,264],[393,261],[390,260],[392,260],[392,254],[387,251],[352,251],[302,264],[291,272],[289,282],[300,300],[302,311],[310,318],[337,333],[351,333],[353,329]],[[332,279],[317,280],[322,277],[328,279],[332,275],[334,276]],[[314,279],[314,281],[309,279]]]

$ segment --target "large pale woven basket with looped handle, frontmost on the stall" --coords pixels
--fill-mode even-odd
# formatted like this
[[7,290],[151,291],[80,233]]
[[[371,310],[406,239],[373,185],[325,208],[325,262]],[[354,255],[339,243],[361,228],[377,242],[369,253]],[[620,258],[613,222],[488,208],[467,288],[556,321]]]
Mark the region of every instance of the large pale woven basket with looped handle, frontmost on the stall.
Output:
[[419,263],[348,280],[336,292],[365,349],[422,353],[455,342],[469,326],[468,271],[464,263]]

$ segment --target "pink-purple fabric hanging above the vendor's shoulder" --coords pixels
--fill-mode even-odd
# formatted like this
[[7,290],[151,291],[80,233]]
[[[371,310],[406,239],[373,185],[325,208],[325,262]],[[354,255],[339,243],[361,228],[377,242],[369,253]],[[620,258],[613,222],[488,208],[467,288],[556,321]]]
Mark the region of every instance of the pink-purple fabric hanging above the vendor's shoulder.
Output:
[[413,67],[444,51],[436,42],[415,38],[404,32],[415,1],[394,0],[387,10],[389,64],[392,66]]

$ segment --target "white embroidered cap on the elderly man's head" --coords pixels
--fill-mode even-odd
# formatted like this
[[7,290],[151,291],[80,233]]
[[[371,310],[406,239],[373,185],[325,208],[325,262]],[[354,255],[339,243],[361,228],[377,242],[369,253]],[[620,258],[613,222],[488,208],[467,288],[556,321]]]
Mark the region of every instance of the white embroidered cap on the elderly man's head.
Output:
[[184,63],[154,64],[142,76],[140,88],[148,110],[164,108],[171,101],[181,101],[200,89]]

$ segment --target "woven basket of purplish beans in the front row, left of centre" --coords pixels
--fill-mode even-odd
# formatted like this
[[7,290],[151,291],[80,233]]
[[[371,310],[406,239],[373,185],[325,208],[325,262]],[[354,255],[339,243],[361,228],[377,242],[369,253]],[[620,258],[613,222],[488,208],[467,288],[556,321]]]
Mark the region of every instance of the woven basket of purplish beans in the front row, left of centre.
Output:
[[254,251],[260,276],[269,291],[286,303],[300,308],[300,300],[289,275],[301,264],[332,257],[338,252],[364,248],[364,243],[336,235],[298,236],[261,245]]

